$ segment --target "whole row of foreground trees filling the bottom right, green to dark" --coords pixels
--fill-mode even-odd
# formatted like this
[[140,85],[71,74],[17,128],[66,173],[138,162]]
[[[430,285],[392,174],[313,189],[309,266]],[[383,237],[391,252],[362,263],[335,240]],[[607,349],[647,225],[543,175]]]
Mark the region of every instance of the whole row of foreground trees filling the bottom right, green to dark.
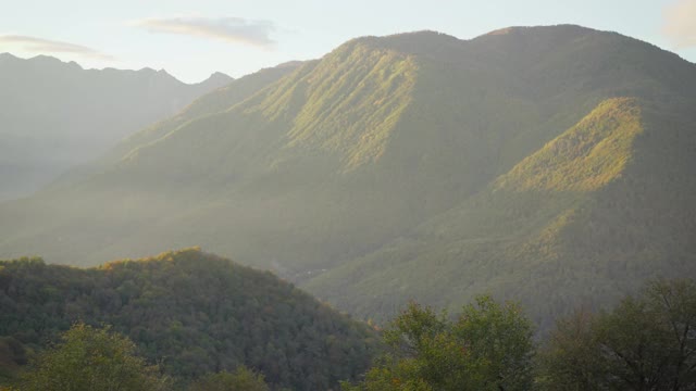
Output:
[[549,337],[514,303],[478,297],[455,317],[411,303],[388,353],[351,391],[694,390],[696,283],[652,280],[612,311],[577,308]]

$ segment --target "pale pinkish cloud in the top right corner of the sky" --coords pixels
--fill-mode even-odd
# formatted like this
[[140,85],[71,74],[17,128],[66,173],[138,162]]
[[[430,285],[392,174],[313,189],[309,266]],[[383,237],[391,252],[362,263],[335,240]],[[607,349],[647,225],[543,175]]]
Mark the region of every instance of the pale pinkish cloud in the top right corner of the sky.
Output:
[[678,0],[666,7],[662,34],[678,48],[696,47],[696,0]]

